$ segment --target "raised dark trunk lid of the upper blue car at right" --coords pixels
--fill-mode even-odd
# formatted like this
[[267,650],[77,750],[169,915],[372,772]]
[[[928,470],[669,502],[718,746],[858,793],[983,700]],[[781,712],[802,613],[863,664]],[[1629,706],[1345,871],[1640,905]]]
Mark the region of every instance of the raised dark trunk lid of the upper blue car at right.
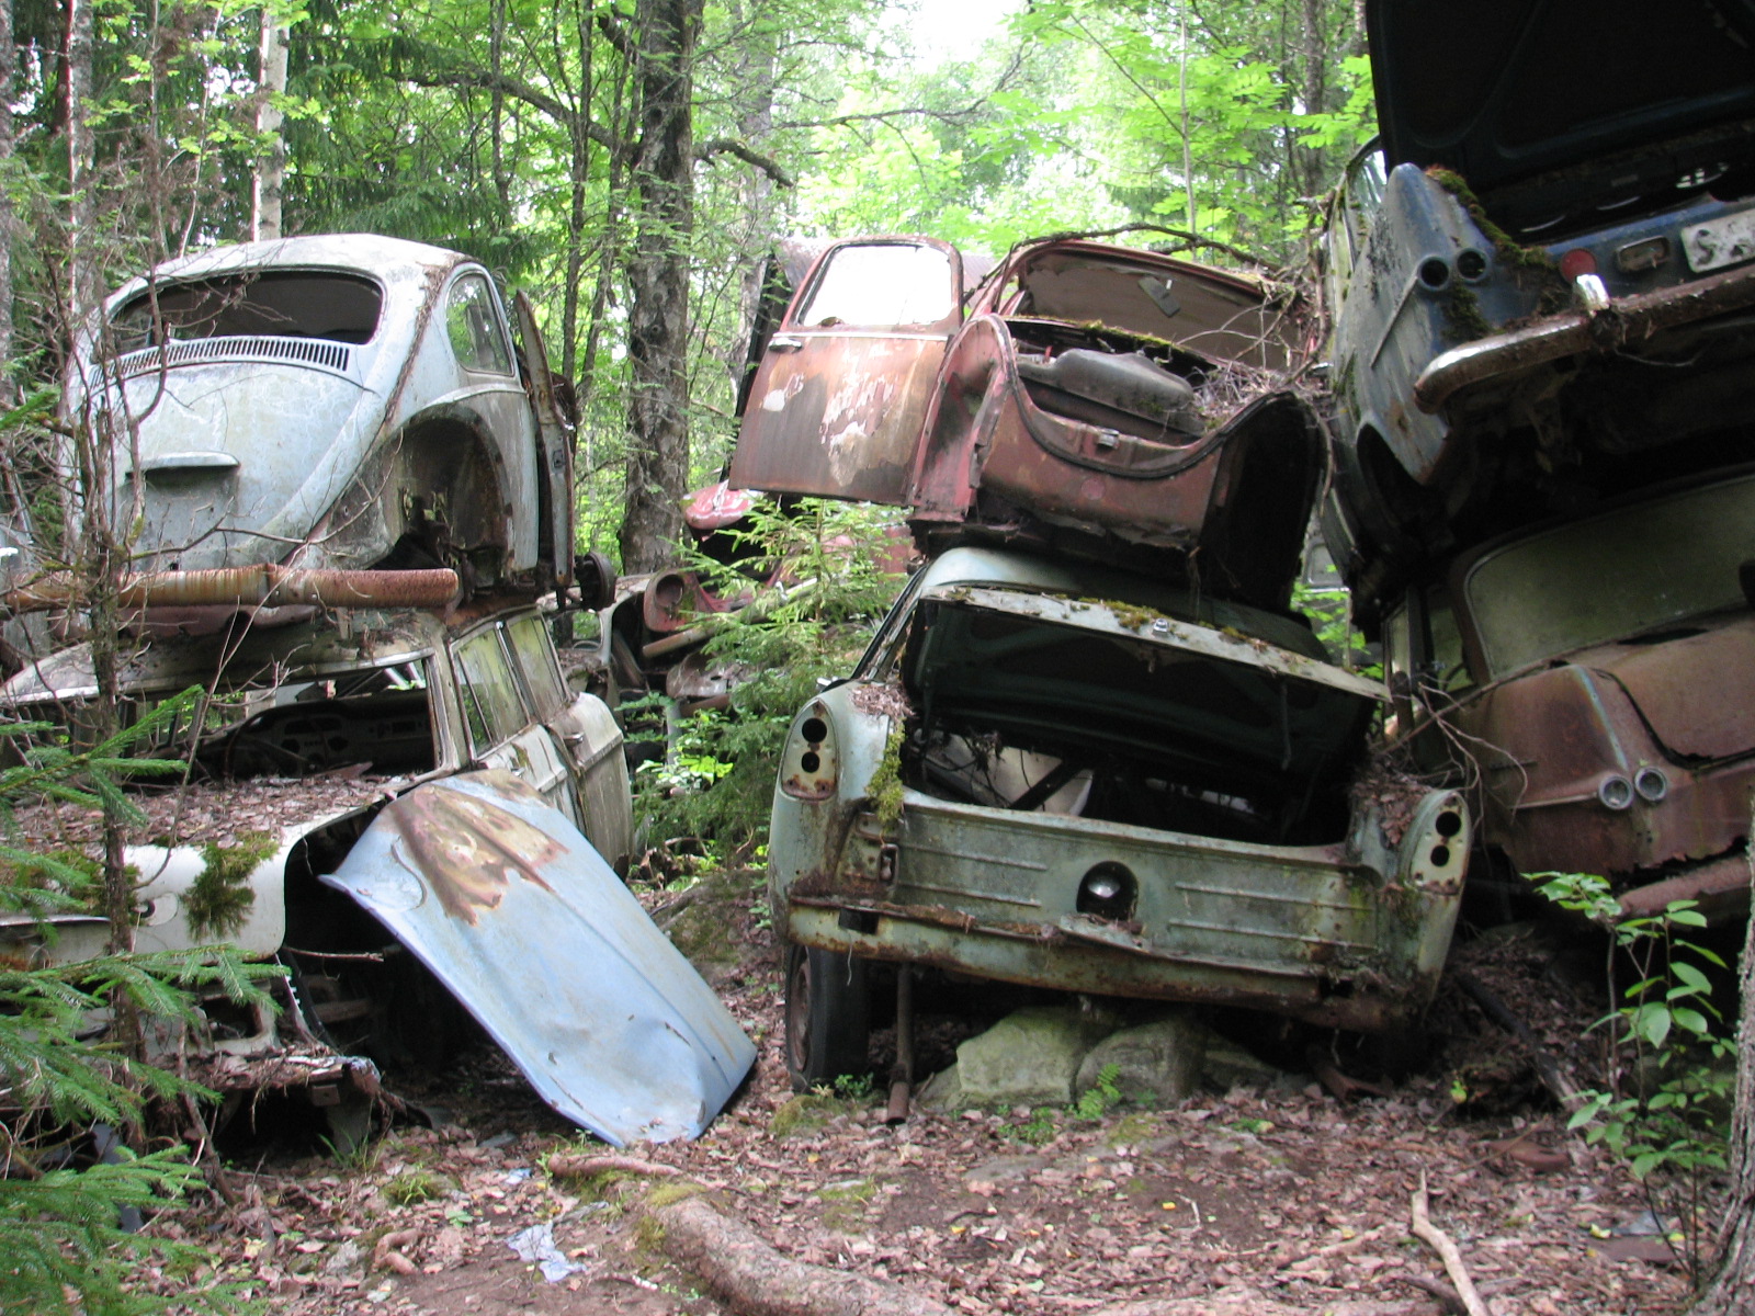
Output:
[[[1736,165],[1713,130],[1755,118],[1750,0],[1369,0],[1365,23],[1388,163],[1444,165],[1478,193],[1657,144],[1674,188]],[[1755,153],[1746,126],[1734,140]]]

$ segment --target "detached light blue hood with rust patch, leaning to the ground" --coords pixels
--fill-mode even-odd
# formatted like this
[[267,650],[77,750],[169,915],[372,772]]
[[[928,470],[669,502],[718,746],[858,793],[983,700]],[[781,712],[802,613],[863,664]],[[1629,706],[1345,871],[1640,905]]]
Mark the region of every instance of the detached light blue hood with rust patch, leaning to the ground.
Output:
[[323,881],[383,921],[544,1100],[605,1142],[698,1135],[755,1063],[609,865],[511,774],[390,802]]

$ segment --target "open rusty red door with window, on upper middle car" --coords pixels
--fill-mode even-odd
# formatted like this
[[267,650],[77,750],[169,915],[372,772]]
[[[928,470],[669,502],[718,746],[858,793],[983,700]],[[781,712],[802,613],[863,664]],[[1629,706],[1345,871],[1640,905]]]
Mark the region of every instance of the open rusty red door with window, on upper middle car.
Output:
[[749,390],[730,483],[900,505],[944,349],[962,256],[927,237],[837,242],[811,268]]

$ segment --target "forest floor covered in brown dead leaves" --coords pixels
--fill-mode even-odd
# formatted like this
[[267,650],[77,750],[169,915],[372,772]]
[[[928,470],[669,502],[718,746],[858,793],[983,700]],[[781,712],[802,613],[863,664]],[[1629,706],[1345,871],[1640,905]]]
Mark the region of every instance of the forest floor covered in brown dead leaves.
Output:
[[[1434,1056],[1383,1095],[1341,1100],[1286,1069],[1165,1111],[916,1109],[888,1125],[883,1093],[793,1095],[777,946],[748,876],[723,890],[718,909],[702,900],[697,912],[742,935],[707,976],[760,1058],[698,1141],[593,1165],[611,1149],[483,1042],[425,1090],[407,1081],[428,1111],[442,1102],[435,1125],[397,1121],[342,1160],[309,1141],[233,1153],[235,1204],[160,1228],[202,1237],[226,1276],[293,1316],[834,1311],[709,1291],[700,1267],[674,1262],[655,1204],[690,1184],[714,1219],[776,1249],[774,1269],[893,1281],[928,1311],[1427,1316],[1458,1307],[1439,1255],[1411,1232],[1425,1183],[1432,1223],[1495,1316],[1687,1305],[1653,1200],[1564,1130],[1523,1048],[1451,977],[1432,1011]],[[1541,933],[1476,941],[1457,958],[1590,1086],[1590,956]],[[927,1067],[979,1026],[925,1021]],[[1267,1041],[1278,1028],[1255,1026]],[[1674,1198],[1657,1202],[1667,1228]],[[509,1244],[532,1228],[553,1244],[553,1281]]]

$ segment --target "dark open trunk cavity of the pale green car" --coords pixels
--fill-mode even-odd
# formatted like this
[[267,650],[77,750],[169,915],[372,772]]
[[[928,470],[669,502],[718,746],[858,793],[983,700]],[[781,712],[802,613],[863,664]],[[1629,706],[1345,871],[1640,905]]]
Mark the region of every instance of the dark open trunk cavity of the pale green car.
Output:
[[907,786],[1225,840],[1344,839],[1371,700],[1076,626],[932,612],[902,662]]

